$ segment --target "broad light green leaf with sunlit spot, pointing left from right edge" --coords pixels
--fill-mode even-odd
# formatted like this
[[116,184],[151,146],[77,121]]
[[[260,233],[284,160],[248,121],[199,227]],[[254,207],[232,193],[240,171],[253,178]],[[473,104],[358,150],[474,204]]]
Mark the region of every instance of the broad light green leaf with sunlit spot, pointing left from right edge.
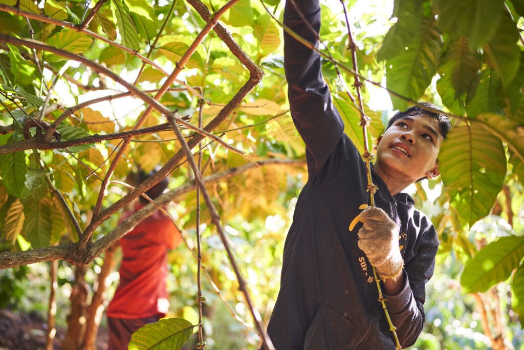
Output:
[[485,292],[505,281],[524,258],[524,237],[502,237],[482,248],[466,263],[460,277],[463,293]]

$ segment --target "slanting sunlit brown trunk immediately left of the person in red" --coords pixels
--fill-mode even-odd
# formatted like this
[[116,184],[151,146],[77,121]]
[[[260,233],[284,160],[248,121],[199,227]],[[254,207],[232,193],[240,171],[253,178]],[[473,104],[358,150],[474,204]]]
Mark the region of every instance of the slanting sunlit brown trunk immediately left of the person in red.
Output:
[[107,296],[106,290],[109,283],[107,277],[114,271],[115,265],[115,245],[113,245],[105,251],[104,264],[98,275],[96,285],[93,287],[93,299],[91,300],[91,304],[87,311],[85,336],[82,347],[84,350],[96,350],[96,335],[99,330],[100,321],[102,320],[102,313],[105,308],[104,301]]

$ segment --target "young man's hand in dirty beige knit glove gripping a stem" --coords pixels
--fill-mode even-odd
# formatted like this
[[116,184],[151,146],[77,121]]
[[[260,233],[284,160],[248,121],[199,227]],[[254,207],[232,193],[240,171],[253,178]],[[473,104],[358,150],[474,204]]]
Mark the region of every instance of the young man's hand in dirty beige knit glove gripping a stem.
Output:
[[363,224],[358,230],[358,248],[364,251],[382,280],[396,279],[404,267],[397,224],[377,207],[365,208],[360,217]]

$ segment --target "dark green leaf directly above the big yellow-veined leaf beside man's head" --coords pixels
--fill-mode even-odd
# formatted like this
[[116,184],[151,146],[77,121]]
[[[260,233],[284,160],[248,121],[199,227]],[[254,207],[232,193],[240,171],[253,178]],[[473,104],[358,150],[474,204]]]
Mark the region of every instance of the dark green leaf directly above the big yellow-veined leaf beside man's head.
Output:
[[499,96],[500,78],[491,69],[483,70],[471,83],[467,92],[466,112],[469,118],[479,113],[500,113],[502,100]]

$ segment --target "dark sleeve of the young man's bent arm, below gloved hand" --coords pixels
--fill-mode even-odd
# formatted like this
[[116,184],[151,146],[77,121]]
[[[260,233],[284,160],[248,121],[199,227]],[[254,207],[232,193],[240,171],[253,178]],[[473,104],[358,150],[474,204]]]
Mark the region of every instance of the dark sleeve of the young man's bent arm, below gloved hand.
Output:
[[413,259],[406,262],[406,284],[397,295],[384,295],[391,322],[397,327],[402,348],[413,345],[424,326],[425,284],[433,275],[439,239],[435,228],[424,215],[416,212],[419,221],[419,245]]

